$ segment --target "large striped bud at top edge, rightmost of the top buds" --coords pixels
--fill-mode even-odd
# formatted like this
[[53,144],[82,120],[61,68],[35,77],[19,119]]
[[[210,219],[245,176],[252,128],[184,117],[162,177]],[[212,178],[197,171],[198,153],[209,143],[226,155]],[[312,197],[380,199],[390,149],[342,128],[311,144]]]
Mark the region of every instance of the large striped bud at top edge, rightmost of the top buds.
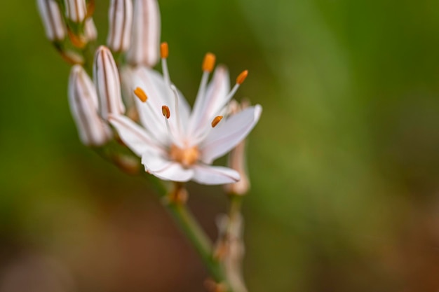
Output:
[[135,0],[128,62],[133,65],[154,67],[159,57],[160,32],[160,11],[157,1]]

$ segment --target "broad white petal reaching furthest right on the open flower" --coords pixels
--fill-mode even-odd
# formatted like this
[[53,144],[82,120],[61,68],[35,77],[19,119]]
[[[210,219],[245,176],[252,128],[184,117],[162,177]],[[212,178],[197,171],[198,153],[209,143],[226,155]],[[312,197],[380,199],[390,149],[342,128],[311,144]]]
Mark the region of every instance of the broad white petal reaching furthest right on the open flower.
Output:
[[240,113],[236,113],[236,115],[224,121],[223,124],[219,122],[219,125],[212,129],[208,137],[201,144],[201,160],[210,164],[216,158],[229,152],[255,127],[261,112],[262,106],[257,104]]

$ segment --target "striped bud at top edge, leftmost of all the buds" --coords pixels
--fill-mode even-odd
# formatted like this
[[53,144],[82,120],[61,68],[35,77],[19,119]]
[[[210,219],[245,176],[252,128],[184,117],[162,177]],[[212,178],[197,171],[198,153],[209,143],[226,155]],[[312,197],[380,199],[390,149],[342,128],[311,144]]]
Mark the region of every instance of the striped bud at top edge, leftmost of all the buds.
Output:
[[55,0],[37,0],[36,3],[38,4],[47,38],[50,41],[65,39],[66,27],[58,3]]

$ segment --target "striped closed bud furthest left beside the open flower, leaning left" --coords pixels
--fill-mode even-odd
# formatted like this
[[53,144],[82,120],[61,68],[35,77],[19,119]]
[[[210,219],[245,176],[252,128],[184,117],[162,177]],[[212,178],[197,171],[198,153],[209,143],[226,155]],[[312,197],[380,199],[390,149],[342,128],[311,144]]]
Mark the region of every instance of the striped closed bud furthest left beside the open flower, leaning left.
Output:
[[97,114],[95,85],[79,65],[70,71],[69,104],[83,144],[102,146],[112,138],[108,125]]

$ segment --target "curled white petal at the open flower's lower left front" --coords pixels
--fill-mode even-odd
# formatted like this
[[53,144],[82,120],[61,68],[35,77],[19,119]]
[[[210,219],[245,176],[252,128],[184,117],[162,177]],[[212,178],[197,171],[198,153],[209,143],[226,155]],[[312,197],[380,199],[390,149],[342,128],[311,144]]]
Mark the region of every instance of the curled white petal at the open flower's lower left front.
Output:
[[149,173],[166,181],[189,181],[194,176],[193,169],[185,169],[177,162],[149,152],[142,155],[142,165]]

